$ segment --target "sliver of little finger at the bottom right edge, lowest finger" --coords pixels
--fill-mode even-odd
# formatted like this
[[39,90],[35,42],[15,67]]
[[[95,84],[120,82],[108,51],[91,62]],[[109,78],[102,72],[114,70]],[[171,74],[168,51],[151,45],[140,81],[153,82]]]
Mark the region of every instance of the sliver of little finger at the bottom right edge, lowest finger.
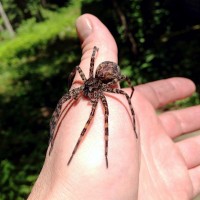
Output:
[[200,194],[200,166],[189,170],[189,174],[193,185],[193,195],[196,196]]

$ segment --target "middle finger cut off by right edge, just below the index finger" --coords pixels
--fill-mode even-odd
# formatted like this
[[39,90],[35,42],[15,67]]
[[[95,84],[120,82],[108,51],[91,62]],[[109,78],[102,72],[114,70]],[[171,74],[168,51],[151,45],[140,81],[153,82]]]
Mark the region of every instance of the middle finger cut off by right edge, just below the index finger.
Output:
[[171,138],[200,129],[200,106],[165,112],[159,117]]

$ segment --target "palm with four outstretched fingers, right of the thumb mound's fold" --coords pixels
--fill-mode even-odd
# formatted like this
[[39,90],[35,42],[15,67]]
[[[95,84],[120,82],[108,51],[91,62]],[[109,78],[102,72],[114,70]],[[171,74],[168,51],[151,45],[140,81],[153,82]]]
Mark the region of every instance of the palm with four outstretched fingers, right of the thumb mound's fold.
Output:
[[200,108],[160,115],[154,111],[193,90],[193,85],[182,78],[138,86],[146,97],[140,101],[145,113],[139,114],[142,123],[139,199],[191,199],[200,191],[200,136],[173,141],[199,128]]

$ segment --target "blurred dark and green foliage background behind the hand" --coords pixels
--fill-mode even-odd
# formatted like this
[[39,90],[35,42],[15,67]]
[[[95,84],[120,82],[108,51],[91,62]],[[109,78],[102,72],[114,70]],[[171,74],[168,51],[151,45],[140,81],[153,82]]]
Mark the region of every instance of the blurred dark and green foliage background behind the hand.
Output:
[[172,76],[197,92],[162,110],[199,104],[200,3],[196,0],[2,0],[0,17],[0,200],[26,199],[42,167],[49,119],[81,50],[75,21],[99,17],[115,37],[133,84]]

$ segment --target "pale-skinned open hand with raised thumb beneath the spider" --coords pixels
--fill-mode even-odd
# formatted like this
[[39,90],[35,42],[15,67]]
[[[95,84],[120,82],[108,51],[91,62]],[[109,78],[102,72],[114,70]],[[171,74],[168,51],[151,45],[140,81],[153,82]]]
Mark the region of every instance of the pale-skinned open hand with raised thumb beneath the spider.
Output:
[[[108,29],[94,16],[77,20],[82,43],[80,67],[88,76],[91,52],[98,46],[95,67],[117,63],[117,46]],[[72,87],[80,85],[75,77]],[[130,94],[131,89],[125,89]],[[170,78],[135,87],[132,104],[139,139],[133,132],[123,95],[106,94],[109,107],[109,168],[104,158],[104,110],[98,104],[86,137],[70,165],[67,161],[85,125],[91,104],[80,98],[69,109],[51,155],[29,200],[189,200],[200,193],[200,136],[173,139],[200,129],[200,106],[156,114],[156,109],[190,96],[195,85],[186,78]]]

